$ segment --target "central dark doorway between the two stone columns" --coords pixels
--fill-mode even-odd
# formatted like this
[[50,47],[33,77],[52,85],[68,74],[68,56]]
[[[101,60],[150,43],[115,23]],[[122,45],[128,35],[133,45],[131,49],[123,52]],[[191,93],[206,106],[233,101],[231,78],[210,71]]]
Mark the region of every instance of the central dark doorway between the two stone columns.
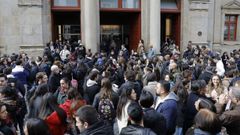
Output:
[[136,49],[140,39],[140,13],[100,12],[101,45],[120,49],[124,44],[128,49]]

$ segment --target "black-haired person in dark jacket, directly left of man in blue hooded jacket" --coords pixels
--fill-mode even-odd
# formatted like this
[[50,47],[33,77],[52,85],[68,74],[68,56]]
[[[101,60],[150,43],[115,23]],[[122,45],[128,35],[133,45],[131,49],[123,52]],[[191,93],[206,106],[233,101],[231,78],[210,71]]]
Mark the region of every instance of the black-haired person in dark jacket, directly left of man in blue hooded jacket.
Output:
[[163,117],[163,115],[154,110],[154,108],[151,108],[153,102],[153,95],[149,91],[143,90],[139,99],[139,103],[143,107],[144,127],[150,128],[157,135],[165,135],[166,119]]

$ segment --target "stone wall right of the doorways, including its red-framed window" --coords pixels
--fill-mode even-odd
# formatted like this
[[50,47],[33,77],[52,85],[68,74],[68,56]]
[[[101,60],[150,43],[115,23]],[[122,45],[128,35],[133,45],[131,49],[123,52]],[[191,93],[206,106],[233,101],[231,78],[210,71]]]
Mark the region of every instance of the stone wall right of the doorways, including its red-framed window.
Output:
[[182,49],[188,41],[220,52],[240,48],[239,0],[184,0],[182,5]]

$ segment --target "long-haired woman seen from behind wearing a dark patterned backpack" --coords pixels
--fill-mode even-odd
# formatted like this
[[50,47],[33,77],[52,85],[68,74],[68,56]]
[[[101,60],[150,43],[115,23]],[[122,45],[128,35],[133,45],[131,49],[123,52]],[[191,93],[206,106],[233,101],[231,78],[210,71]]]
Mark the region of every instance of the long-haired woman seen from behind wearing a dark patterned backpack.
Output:
[[110,80],[103,78],[101,81],[101,90],[95,96],[93,106],[97,109],[103,120],[112,124],[116,117],[118,99],[118,94],[112,90]]

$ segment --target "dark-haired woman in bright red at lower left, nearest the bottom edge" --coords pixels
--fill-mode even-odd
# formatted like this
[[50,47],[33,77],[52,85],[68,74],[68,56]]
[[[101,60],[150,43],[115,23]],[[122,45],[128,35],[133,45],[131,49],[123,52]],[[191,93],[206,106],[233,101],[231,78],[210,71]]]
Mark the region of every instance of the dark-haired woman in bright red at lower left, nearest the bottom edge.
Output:
[[45,120],[50,128],[51,135],[64,135],[67,128],[66,112],[59,107],[57,99],[52,93],[46,93],[42,100],[39,118]]

